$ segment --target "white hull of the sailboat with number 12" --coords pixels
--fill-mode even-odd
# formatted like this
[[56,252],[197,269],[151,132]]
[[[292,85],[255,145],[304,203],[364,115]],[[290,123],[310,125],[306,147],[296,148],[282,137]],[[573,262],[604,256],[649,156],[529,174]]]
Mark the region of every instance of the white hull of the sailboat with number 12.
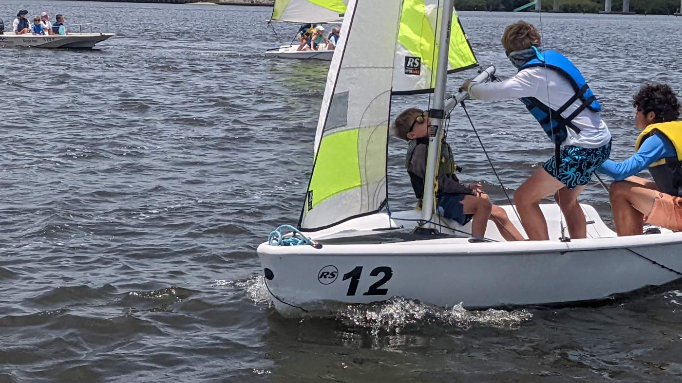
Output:
[[258,247],[272,301],[283,316],[392,296],[439,306],[461,302],[470,309],[595,301],[666,284],[682,270],[682,233],[571,242],[320,243],[320,249]]

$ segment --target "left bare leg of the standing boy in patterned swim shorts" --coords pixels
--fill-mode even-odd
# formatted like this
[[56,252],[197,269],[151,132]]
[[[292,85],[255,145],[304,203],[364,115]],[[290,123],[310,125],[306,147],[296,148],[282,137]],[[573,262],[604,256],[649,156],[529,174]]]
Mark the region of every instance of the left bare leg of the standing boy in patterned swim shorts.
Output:
[[547,241],[547,222],[540,210],[540,200],[564,187],[543,168],[539,168],[514,193],[514,202],[523,228],[531,241]]

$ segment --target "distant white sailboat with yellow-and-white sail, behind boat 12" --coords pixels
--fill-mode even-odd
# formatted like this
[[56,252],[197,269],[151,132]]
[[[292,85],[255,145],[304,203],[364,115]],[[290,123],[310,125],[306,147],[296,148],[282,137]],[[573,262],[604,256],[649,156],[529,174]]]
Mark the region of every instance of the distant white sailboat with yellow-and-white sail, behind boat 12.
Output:
[[[340,24],[346,12],[348,0],[275,0],[272,16],[268,22],[295,22],[298,24]],[[333,50],[326,43],[318,50],[297,50],[295,44],[282,45],[265,51],[267,57],[282,59],[331,60]]]

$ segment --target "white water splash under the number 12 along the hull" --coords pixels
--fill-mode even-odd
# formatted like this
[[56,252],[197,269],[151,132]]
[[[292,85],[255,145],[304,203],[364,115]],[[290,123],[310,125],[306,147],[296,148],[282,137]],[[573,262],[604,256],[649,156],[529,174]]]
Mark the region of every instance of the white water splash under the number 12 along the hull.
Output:
[[530,320],[533,314],[526,310],[469,311],[462,307],[462,303],[443,308],[394,297],[371,305],[349,305],[338,311],[336,318],[346,325],[369,328],[373,335],[379,335],[399,334],[407,329],[419,329],[432,323],[459,328],[471,328],[476,325],[512,328]]

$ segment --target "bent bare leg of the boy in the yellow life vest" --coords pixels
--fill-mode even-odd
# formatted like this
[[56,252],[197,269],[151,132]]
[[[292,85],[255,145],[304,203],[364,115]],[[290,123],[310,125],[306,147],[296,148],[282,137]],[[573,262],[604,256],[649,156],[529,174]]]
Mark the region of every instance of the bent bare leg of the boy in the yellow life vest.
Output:
[[657,191],[631,181],[614,182],[608,191],[618,235],[642,234],[644,217],[651,213]]

